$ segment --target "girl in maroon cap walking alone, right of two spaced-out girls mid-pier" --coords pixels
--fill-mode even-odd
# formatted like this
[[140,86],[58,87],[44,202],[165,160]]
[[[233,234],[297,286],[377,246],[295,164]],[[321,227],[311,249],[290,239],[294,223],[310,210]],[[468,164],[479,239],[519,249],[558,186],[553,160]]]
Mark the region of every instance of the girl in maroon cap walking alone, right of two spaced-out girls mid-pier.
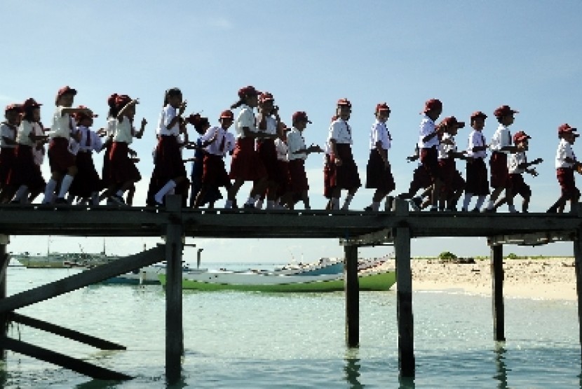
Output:
[[[388,104],[377,104],[376,121],[370,131],[370,157],[367,164],[366,188],[374,188],[376,191],[372,197],[372,205],[364,208],[365,211],[377,212],[380,209],[380,202],[388,193],[395,190],[394,177],[388,162],[388,150],[391,147],[392,137],[386,128],[386,120],[390,116]],[[386,209],[388,209],[388,199],[386,199]]]

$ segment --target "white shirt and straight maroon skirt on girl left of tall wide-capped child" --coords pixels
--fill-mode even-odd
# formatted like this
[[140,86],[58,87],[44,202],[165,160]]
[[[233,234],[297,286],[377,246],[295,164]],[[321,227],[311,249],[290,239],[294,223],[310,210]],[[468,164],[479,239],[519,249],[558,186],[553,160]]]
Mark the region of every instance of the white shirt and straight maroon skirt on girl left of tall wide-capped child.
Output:
[[487,165],[485,158],[487,151],[473,151],[475,146],[485,146],[485,136],[480,131],[473,130],[468,137],[465,192],[475,196],[489,195],[489,181],[487,180]]

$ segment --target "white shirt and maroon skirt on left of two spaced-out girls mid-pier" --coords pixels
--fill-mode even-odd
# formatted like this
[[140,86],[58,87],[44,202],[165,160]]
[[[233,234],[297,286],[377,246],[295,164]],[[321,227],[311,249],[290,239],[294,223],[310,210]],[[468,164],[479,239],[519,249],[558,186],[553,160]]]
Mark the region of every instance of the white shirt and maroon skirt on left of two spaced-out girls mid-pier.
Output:
[[[333,157],[334,171],[330,177],[330,186],[340,189],[354,189],[360,188],[360,175],[358,174],[358,167],[356,161],[353,160],[351,145],[353,144],[351,137],[351,127],[348,122],[338,118],[330,125],[329,139],[335,140],[337,155],[330,155]],[[341,165],[335,164],[335,158],[339,157]]]

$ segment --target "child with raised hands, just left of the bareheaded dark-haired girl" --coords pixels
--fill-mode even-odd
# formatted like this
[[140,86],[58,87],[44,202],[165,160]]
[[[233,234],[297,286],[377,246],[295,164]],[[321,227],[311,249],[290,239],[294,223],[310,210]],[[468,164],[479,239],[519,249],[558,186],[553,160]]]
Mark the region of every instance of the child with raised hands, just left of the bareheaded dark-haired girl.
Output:
[[142,179],[140,171],[135,167],[135,160],[130,157],[130,153],[135,156],[135,151],[129,148],[134,136],[140,139],[147,125],[147,120],[142,119],[140,131],[135,132],[133,118],[135,105],[139,102],[138,99],[131,99],[126,94],[121,94],[115,99],[118,113],[113,144],[109,152],[109,192],[111,193],[109,199],[119,205],[126,204],[123,201],[123,193]]

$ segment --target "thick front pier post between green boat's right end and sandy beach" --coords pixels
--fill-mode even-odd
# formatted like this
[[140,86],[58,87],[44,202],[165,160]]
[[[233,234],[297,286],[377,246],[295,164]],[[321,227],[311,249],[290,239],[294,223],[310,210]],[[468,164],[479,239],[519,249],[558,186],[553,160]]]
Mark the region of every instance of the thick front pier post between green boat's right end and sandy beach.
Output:
[[[406,201],[396,201],[396,215],[406,215]],[[412,317],[412,269],[410,267],[410,229],[396,228],[396,313],[398,316],[398,367],[400,376],[414,376],[414,320]]]

